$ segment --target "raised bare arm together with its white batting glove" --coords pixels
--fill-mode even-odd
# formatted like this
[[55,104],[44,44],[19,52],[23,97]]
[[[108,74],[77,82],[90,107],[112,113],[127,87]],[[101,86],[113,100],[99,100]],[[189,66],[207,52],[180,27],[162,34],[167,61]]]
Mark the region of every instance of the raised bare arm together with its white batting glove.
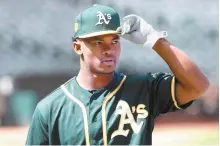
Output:
[[208,79],[180,49],[170,44],[164,37],[166,32],[158,32],[137,15],[128,15],[118,31],[121,36],[143,47],[153,48],[169,65],[177,78],[175,97],[180,105],[200,96],[209,87]]

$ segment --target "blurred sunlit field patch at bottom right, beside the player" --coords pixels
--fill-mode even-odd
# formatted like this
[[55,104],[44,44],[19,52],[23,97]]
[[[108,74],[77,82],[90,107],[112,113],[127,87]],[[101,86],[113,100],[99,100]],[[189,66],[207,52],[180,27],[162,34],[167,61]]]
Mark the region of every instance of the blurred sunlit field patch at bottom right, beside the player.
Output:
[[216,146],[218,143],[218,123],[156,125],[153,132],[156,146]]

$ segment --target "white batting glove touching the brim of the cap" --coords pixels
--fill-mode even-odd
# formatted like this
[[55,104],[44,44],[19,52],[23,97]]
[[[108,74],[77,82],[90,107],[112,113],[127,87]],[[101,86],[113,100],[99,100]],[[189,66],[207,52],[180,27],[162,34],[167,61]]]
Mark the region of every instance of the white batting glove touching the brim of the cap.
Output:
[[123,24],[118,28],[121,36],[143,47],[153,47],[159,38],[168,36],[166,31],[155,31],[144,19],[137,15],[128,15],[123,18]]

